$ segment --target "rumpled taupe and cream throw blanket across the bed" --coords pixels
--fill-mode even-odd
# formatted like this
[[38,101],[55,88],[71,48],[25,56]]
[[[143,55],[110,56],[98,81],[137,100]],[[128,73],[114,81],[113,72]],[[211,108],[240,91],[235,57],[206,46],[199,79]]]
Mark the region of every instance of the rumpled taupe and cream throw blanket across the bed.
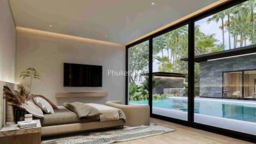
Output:
[[66,108],[74,111],[79,118],[86,118],[90,116],[99,116],[100,122],[107,122],[111,120],[125,120],[124,112],[121,109],[113,108],[103,104],[84,104],[82,102],[65,102],[63,104]]

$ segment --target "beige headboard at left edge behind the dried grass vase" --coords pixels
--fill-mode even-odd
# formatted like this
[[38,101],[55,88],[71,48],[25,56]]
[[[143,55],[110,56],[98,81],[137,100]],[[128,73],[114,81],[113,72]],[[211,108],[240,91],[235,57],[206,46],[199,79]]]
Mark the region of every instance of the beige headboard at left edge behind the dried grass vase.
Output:
[[4,85],[9,86],[12,90],[17,90],[17,84],[0,81],[0,129],[3,127],[3,125],[6,122],[6,102],[3,99]]

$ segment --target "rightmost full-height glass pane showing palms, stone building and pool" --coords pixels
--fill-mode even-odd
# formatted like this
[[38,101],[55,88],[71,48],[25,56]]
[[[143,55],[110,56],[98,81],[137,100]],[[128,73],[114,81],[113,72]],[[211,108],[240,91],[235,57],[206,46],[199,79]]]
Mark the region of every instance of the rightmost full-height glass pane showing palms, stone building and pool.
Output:
[[255,6],[246,1],[195,22],[195,123],[256,135],[256,54],[198,59],[255,44]]

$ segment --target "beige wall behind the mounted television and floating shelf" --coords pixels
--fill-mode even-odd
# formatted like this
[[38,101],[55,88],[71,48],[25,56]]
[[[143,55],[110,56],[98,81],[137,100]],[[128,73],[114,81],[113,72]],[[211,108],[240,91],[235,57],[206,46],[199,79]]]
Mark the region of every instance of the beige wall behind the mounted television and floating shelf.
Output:
[[[20,72],[33,67],[40,72],[41,81],[33,81],[31,93],[42,94],[57,104],[63,102],[97,102],[122,100],[125,102],[125,77],[110,77],[108,70],[125,70],[125,46],[78,38],[35,29],[17,28],[17,83]],[[63,63],[102,65],[102,88],[63,87]],[[55,93],[108,92],[104,98],[58,98]]]

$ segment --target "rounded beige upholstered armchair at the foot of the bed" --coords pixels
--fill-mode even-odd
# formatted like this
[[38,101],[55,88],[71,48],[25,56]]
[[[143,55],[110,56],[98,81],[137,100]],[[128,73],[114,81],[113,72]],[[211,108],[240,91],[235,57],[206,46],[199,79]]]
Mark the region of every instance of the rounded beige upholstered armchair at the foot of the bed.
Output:
[[107,106],[122,109],[127,126],[149,125],[150,108],[148,105],[123,105],[120,101],[108,101]]

